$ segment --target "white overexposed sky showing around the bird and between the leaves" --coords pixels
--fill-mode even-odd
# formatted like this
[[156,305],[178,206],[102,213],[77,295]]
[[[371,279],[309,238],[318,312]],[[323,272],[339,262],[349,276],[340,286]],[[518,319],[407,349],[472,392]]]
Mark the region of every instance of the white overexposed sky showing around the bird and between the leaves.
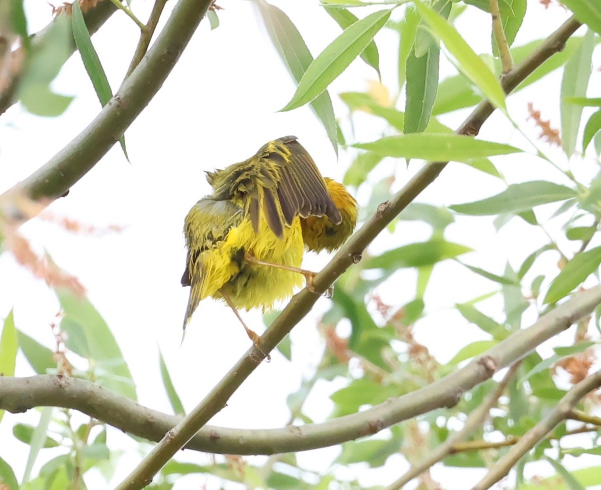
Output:
[[[273,3],[297,25],[314,56],[340,32],[316,1]],[[50,7],[45,1],[26,0],[25,4],[30,31],[37,31],[50,21]],[[165,18],[173,5],[174,0],[167,4]],[[180,286],[185,260],[182,225],[192,204],[208,192],[204,170],[248,158],[264,142],[288,134],[299,137],[326,176],[341,179],[353,158],[352,152],[341,151],[336,160],[325,130],[308,106],[291,112],[276,112],[290,99],[294,84],[264,32],[254,3],[222,0],[219,5],[225,8],[219,12],[219,28],[210,31],[208,22],[201,23],[162,90],[127,130],[131,165],[117,145],[72,188],[67,198],[50,207],[56,215],[78,219],[82,224],[97,227],[117,224],[126,227],[125,230],[97,238],[70,234],[39,219],[23,227],[23,233],[36,250],[40,253],[49,251],[58,265],[76,275],[87,287],[90,301],[111,327],[133,373],[139,402],[166,412],[171,408],[160,382],[159,345],[188,410],[249,347],[249,340],[233,313],[226,306],[207,300],[198,308],[180,348],[181,324],[188,299],[188,289]],[[151,2],[133,2],[132,8],[139,18],[145,19]],[[537,1],[529,0],[528,8],[516,45],[545,37],[568,17],[558,5],[545,10]],[[365,13],[357,10],[356,14],[364,16]],[[457,26],[475,51],[490,51],[489,17],[486,14],[480,11],[464,14]],[[584,32],[581,29],[578,34]],[[123,78],[137,40],[135,24],[120,12],[115,13],[93,37],[113,90]],[[397,34],[385,29],[376,36],[376,42],[380,49],[383,83],[394,95],[397,92]],[[597,50],[594,67],[600,64]],[[453,67],[442,57],[441,79],[452,73]],[[524,122],[526,103],[533,102],[535,108],[542,110],[542,117],[551,119],[553,126],[558,127],[560,76],[560,71],[555,72],[542,84],[508,99],[511,116],[533,139],[538,130],[532,121]],[[599,87],[600,78],[601,74],[594,70],[590,87]],[[367,81],[373,79],[376,79],[374,70],[358,60],[332,84],[330,93],[338,118],[344,120],[347,110],[337,94],[365,90]],[[61,117],[35,117],[16,105],[0,118],[0,191],[44,164],[99,111],[99,102],[78,54],[67,62],[54,87],[59,93],[76,96]],[[590,96],[599,96],[599,93],[590,93]],[[447,115],[443,122],[456,127],[468,112]],[[375,118],[366,116],[358,121],[356,142],[379,137],[383,126]],[[344,127],[347,141],[355,142],[348,124]],[[560,173],[549,170],[547,164],[532,155],[532,147],[514,132],[502,115],[495,114],[487,121],[480,138],[506,142],[529,152],[494,159],[508,182],[544,178],[567,184]],[[566,165],[561,152],[541,146],[559,165]],[[578,160],[576,165],[580,165]],[[373,177],[374,181],[388,175],[394,167],[397,168],[399,188],[415,173],[418,164],[412,162],[407,171],[404,162],[386,162]],[[585,181],[593,175],[583,176],[580,167],[574,171],[580,172],[578,176]],[[418,201],[445,205],[462,203],[487,197],[503,188],[501,181],[465,165],[451,164]],[[359,201],[365,203],[365,197],[365,189],[359,189]],[[554,209],[545,208],[542,215],[549,215]],[[491,222],[489,218],[458,218],[445,237],[475,248],[477,252],[464,256],[463,260],[496,274],[502,273],[507,259],[515,268],[519,267],[525,256],[534,250],[535,243],[542,245],[545,242],[542,233],[520,220],[514,219],[498,234]],[[397,247],[428,237],[429,228],[401,222],[393,237],[380,237],[370,250],[377,253],[392,245]],[[564,252],[573,252],[579,244],[563,245]],[[311,257],[305,266],[317,270],[327,260],[325,255]],[[545,254],[537,262],[538,269],[532,277],[540,271],[554,271],[556,262],[557,256]],[[549,274],[548,279],[552,277]],[[14,307],[17,328],[52,348],[53,337],[48,324],[58,311],[53,293],[43,281],[35,280],[29,271],[16,265],[10,254],[0,256],[0,278],[0,318]],[[395,287],[389,287],[390,284]],[[403,284],[408,286],[404,288]],[[398,307],[413,299],[414,284],[415,272],[403,270],[394,275],[387,283],[388,287],[380,287],[377,293]],[[426,297],[429,314],[416,325],[416,340],[425,343],[436,358],[445,362],[468,343],[468,339],[485,338],[478,329],[466,325],[451,308],[456,302],[469,301],[495,289],[495,284],[475,277],[456,263],[445,262],[437,266]],[[491,301],[487,306],[487,313],[501,319],[499,302]],[[274,354],[271,363],[258,367],[230,399],[227,408],[213,418],[212,424],[263,428],[286,423],[285,397],[296,391],[303,378],[310,377],[322,354],[323,344],[315,325],[327,307],[328,300],[320,299],[315,310],[294,329],[291,334],[293,363]],[[244,317],[251,328],[262,331],[260,314],[245,313]],[[529,311],[529,318],[535,318],[535,311]],[[569,345],[572,332],[561,337],[558,343],[562,340],[564,345]],[[551,350],[547,348],[540,352],[548,355]],[[31,373],[25,359],[19,357],[17,375]],[[343,380],[331,385],[318,384],[307,402],[308,414],[316,421],[325,420],[332,408],[329,394],[343,386]],[[10,427],[16,421],[35,423],[37,417],[34,411],[25,415],[5,414],[0,424],[0,440],[10,441],[10,451],[3,443],[0,456],[17,471],[18,479],[22,476],[28,448],[13,438]],[[136,444],[117,431],[109,433],[109,446],[132,449],[118,464],[112,481],[115,484],[139,461],[139,455],[133,450]],[[58,455],[52,451],[44,450],[43,454]],[[337,453],[337,448],[301,453],[299,464],[326,468]],[[180,453],[178,458],[201,464],[209,461],[206,455],[192,452]],[[582,461],[579,460],[578,465]],[[365,472],[361,466],[353,466],[341,469],[338,474],[343,477],[356,472],[362,475],[362,483],[371,485],[391,482],[403,473],[403,468],[406,468],[404,461],[399,456],[392,456],[385,468]],[[544,474],[552,473],[545,465],[538,469]],[[452,483],[451,477],[456,479],[458,471],[461,471],[460,483]],[[475,483],[482,473],[438,466],[432,474],[445,488],[460,489]],[[204,477],[186,477],[176,488],[197,488],[202,482]],[[97,473],[89,473],[86,483],[90,490],[106,488],[105,481]],[[218,483],[213,480],[208,488],[218,488]]]

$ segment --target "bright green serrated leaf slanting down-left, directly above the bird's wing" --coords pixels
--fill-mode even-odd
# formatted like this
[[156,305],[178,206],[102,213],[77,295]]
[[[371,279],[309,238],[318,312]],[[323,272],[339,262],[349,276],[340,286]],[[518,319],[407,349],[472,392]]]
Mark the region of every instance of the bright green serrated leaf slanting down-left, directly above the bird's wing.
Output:
[[290,111],[319,96],[335,78],[368,46],[382,29],[390,10],[380,10],[358,20],[340,34],[307,68],[290,102],[281,111]]

